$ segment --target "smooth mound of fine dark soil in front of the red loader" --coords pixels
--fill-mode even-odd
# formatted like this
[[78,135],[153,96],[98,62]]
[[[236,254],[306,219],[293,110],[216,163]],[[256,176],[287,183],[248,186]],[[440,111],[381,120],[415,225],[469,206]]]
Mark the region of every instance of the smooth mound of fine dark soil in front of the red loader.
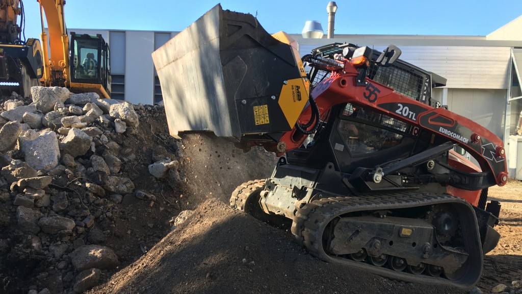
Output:
[[209,199],[145,256],[89,293],[458,293],[327,264],[288,231]]

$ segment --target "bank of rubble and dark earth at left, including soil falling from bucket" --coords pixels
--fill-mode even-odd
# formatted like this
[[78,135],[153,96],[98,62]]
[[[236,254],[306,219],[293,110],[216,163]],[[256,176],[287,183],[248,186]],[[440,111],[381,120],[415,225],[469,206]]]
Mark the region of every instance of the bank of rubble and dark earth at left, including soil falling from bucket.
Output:
[[[230,195],[273,166],[260,150],[235,154],[232,143],[209,136],[174,140],[162,107],[33,90],[32,99],[0,100],[2,293],[95,286],[161,240],[169,220],[212,189]],[[205,164],[210,152],[219,160]],[[249,157],[265,163],[249,165]],[[215,168],[207,172],[215,178],[205,168]]]

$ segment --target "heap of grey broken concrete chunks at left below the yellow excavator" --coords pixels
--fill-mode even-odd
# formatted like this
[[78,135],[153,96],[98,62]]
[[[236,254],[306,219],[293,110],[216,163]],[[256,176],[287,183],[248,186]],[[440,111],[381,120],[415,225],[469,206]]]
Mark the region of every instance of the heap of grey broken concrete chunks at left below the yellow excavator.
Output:
[[[121,171],[136,154],[115,140],[135,133],[138,113],[147,111],[62,87],[32,87],[31,94],[32,100],[13,94],[0,109],[0,268],[27,263],[13,267],[16,273],[0,270],[0,286],[81,293],[118,266],[115,251],[97,245],[109,230],[95,224],[111,220],[125,195],[156,200]],[[151,175],[171,185],[180,180],[177,161],[156,159]],[[30,267],[42,264],[45,270],[28,279],[33,285],[13,285],[13,276],[34,274]]]

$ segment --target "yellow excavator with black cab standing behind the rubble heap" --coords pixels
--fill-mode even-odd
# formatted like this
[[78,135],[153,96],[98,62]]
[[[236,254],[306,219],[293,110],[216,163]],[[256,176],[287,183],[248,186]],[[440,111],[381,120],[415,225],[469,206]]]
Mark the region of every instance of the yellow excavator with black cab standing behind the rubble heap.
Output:
[[[41,40],[22,40],[22,0],[0,0],[0,88],[30,96],[30,87],[61,86],[111,96],[110,50],[101,35],[67,34],[64,0],[37,0]],[[21,16],[20,26],[17,24]],[[45,31],[44,16],[49,33]],[[47,56],[48,58],[43,58]]]

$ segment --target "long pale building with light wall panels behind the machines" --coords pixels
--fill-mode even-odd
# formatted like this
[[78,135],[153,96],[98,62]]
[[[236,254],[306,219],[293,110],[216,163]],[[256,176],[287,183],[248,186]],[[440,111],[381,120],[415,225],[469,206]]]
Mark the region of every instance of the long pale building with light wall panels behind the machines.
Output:
[[[111,48],[112,98],[132,103],[161,101],[151,53],[177,32],[69,29],[100,33]],[[394,44],[400,59],[447,78],[434,98],[504,140],[511,177],[522,179],[522,136],[516,124],[522,111],[522,16],[487,36],[336,35],[304,39],[291,35],[301,55],[328,43],[353,43],[377,50]],[[518,142],[520,141],[520,142]],[[517,146],[518,145],[518,146]],[[518,150],[517,150],[518,147]],[[518,156],[517,156],[518,155]]]

